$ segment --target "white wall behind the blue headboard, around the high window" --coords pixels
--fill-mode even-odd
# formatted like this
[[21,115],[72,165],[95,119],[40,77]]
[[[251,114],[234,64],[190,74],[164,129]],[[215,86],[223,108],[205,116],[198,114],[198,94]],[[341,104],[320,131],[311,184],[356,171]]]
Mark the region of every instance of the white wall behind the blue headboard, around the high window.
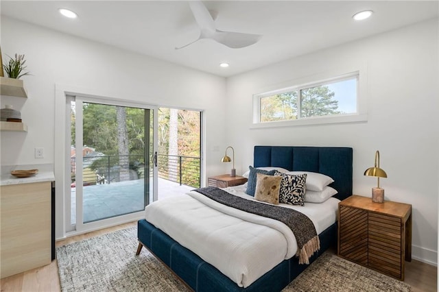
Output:
[[[364,62],[366,123],[250,129],[254,93]],[[385,198],[412,204],[413,257],[437,263],[438,62],[436,19],[229,77],[227,132],[237,173],[252,165],[254,145],[353,147],[353,191],[370,196],[377,180],[363,173],[379,149]]]

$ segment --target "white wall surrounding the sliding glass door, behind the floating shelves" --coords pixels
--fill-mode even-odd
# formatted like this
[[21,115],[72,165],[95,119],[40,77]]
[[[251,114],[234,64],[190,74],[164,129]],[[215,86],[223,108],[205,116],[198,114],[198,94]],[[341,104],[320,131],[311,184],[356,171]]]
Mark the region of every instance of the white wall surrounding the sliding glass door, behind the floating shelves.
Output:
[[[55,87],[82,88],[84,92],[110,93],[111,97],[158,106],[204,110],[206,174],[224,171],[221,151],[226,148],[224,77],[194,71],[97,42],[60,34],[43,27],[1,18],[1,50],[6,55],[25,54],[32,76],[23,80],[27,100],[1,98],[1,108],[14,104],[29,131],[1,132],[1,165],[56,164]],[[209,133],[215,133],[210,134]],[[44,147],[45,158],[34,158],[34,147]],[[56,173],[58,178],[59,173]],[[62,228],[62,194],[57,186],[56,237]]]

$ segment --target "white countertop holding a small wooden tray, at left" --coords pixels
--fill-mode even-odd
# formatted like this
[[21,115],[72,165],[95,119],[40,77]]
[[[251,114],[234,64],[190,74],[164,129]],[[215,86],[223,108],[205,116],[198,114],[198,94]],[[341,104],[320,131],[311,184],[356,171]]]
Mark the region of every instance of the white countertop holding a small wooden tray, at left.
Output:
[[[11,171],[21,169],[38,169],[38,173],[29,178],[16,178]],[[55,180],[53,165],[5,165],[1,166],[0,186],[9,184],[31,184],[32,182],[53,182]]]

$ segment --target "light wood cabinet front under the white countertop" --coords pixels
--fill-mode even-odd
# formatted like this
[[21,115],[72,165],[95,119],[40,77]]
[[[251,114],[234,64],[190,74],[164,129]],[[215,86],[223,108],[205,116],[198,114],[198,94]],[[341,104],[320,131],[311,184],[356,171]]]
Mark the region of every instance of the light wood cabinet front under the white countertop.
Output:
[[51,182],[0,186],[1,278],[51,263]]

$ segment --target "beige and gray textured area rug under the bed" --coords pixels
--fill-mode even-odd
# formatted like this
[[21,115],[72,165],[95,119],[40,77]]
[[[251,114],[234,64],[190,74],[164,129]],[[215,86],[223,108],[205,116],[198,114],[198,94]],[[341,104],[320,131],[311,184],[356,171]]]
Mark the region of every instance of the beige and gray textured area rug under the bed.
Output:
[[[57,247],[62,291],[189,291],[143,248],[137,227]],[[283,292],[410,291],[410,286],[325,252]],[[270,291],[271,292],[271,291]]]

